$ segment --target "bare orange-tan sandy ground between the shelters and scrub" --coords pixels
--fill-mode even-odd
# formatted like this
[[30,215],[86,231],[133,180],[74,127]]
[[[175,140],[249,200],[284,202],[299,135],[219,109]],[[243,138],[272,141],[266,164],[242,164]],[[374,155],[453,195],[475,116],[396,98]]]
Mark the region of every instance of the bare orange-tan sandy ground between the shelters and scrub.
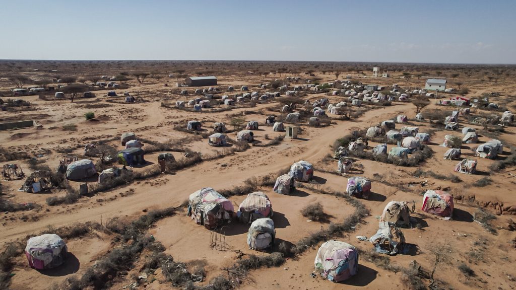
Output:
[[[326,80],[332,80],[332,76],[324,75]],[[375,82],[383,85],[392,85],[393,80],[376,79]],[[259,83],[257,76],[247,80],[222,79],[221,84],[232,84],[236,86]],[[422,82],[423,83],[423,80]],[[399,83],[403,86],[403,83]],[[504,87],[507,92],[514,88],[514,84],[508,83]],[[251,90],[256,88],[251,88]],[[482,92],[490,92],[494,87],[472,87],[470,96],[479,96]],[[2,122],[13,120],[37,120],[42,127],[25,128],[21,130],[2,131],[0,139],[3,147],[11,151],[24,151],[30,156],[39,156],[38,159],[44,161],[52,169],[57,168],[59,159],[63,153],[59,153],[62,148],[71,148],[71,153],[82,155],[83,147],[86,142],[94,140],[111,139],[109,144],[117,150],[123,149],[120,144],[119,136],[123,132],[135,132],[139,138],[145,138],[158,142],[168,140],[179,140],[184,137],[191,137],[191,134],[174,130],[174,126],[184,125],[189,120],[200,120],[203,126],[209,126],[216,121],[229,123],[230,115],[244,114],[242,117],[246,121],[259,121],[261,126],[259,131],[255,131],[255,138],[262,142],[268,142],[267,138],[272,139],[283,133],[272,132],[271,127],[263,126],[265,118],[269,115],[279,116],[280,113],[272,109],[278,106],[277,102],[267,102],[251,108],[234,108],[229,111],[195,113],[190,111],[180,111],[177,109],[160,106],[163,100],[189,100],[195,96],[187,97],[174,94],[171,90],[159,84],[149,84],[135,86],[127,89],[132,94],[142,96],[147,102],[136,104],[110,103],[107,98],[102,96],[102,91],[98,92],[99,98],[78,99],[71,103],[69,101],[43,101],[36,96],[27,96],[24,99],[31,102],[31,109],[22,111],[14,110],[2,112],[0,119]],[[159,91],[159,93],[157,93]],[[104,91],[104,94],[107,91]],[[165,92],[165,93],[164,93]],[[118,92],[122,93],[121,91]],[[232,93],[233,94],[233,93]],[[324,94],[309,94],[304,99],[315,100]],[[344,99],[343,96],[329,96],[331,103],[336,103]],[[120,99],[121,102],[121,99]],[[326,127],[310,127],[302,124],[303,133],[300,139],[285,138],[277,146],[256,147],[252,146],[245,152],[235,153],[220,159],[203,162],[196,166],[180,170],[175,174],[162,174],[156,178],[136,181],[130,185],[121,186],[112,190],[101,192],[94,196],[83,197],[77,203],[70,205],[49,206],[45,200],[49,196],[63,196],[65,191],[52,189],[51,192],[41,194],[28,194],[17,189],[23,180],[2,181],[4,195],[11,201],[18,203],[34,202],[41,205],[37,210],[2,213],[0,221],[2,225],[1,242],[25,238],[46,229],[49,226],[61,227],[75,222],[103,221],[112,217],[133,217],[142,214],[142,210],[152,208],[163,208],[167,206],[179,206],[188,196],[203,187],[213,187],[215,189],[229,189],[239,186],[252,176],[264,176],[269,173],[277,172],[292,165],[298,160],[307,160],[315,165],[318,180],[324,183],[321,188],[345,191],[348,175],[337,175],[317,171],[324,168],[327,171],[335,171],[336,160],[328,160],[325,157],[332,153],[332,144],[335,139],[340,138],[352,130],[368,128],[372,124],[377,124],[383,120],[388,120],[398,114],[406,114],[409,118],[415,116],[415,109],[411,103],[394,102],[392,106],[373,108],[368,105],[363,107],[365,114],[358,119],[344,121],[334,118],[332,124]],[[425,110],[442,108],[436,105],[426,107]],[[83,115],[87,111],[94,111],[98,120],[85,121]],[[335,117],[335,116],[332,116]],[[462,122],[464,118],[461,117]],[[428,122],[411,121],[420,127],[420,132],[430,130]],[[63,131],[61,127],[67,124],[75,124],[76,131]],[[472,125],[469,125],[472,126]],[[397,125],[397,128],[400,126]],[[478,130],[481,128],[476,127]],[[228,125],[228,129],[231,127]],[[211,132],[211,129],[209,129]],[[208,132],[208,131],[206,131]],[[500,138],[510,144],[516,143],[514,127],[506,128],[506,133],[501,134]],[[433,265],[431,250],[439,247],[443,243],[448,243],[453,247],[453,252],[449,254],[447,263],[439,265],[436,278],[447,283],[449,288],[470,289],[511,289],[514,287],[513,263],[516,259],[514,248],[511,248],[511,240],[514,232],[503,229],[507,225],[512,215],[516,214],[516,196],[513,194],[515,183],[514,175],[511,175],[514,167],[502,170],[501,172],[490,172],[489,166],[494,160],[478,159],[477,170],[480,174],[466,175],[453,172],[457,161],[443,160],[442,155],[446,148],[441,147],[446,131],[437,131],[432,136],[430,147],[435,152],[434,155],[421,165],[425,171],[431,170],[436,173],[449,175],[455,174],[462,180],[460,183],[437,180],[431,177],[415,178],[412,173],[417,167],[397,167],[390,164],[381,164],[370,160],[360,160],[363,173],[360,176],[375,180],[375,176],[383,176],[381,181],[373,182],[374,198],[362,200],[370,210],[370,216],[359,224],[357,230],[346,235],[341,240],[356,245],[364,250],[372,248],[370,243],[359,241],[356,235],[373,235],[378,227],[378,216],[386,203],[392,200],[415,202],[415,212],[412,216],[421,220],[422,229],[403,230],[408,243],[413,244],[418,250],[409,255],[398,255],[391,260],[401,266],[416,260],[425,268]],[[454,133],[461,136],[460,132]],[[228,137],[236,139],[233,133]],[[480,136],[480,142],[489,140],[488,137]],[[188,149],[199,151],[203,154],[211,154],[214,150],[223,151],[208,146],[206,139],[197,138],[182,144]],[[374,146],[370,142],[369,146]],[[508,147],[509,144],[507,144]],[[146,144],[149,146],[149,144]],[[463,155],[473,156],[473,151],[469,150],[475,144],[465,144]],[[392,146],[389,145],[389,149]],[[506,147],[506,148],[507,148]],[[144,146],[145,149],[145,146]],[[508,149],[499,158],[508,156]],[[149,164],[136,168],[136,171],[144,171],[152,166],[156,166],[158,152],[146,155]],[[176,159],[181,158],[181,152],[172,152]],[[26,160],[11,162],[0,162],[0,166],[8,163],[17,163],[22,166],[26,174],[31,170],[28,168]],[[512,173],[511,173],[512,172]],[[516,174],[516,173],[515,173]],[[471,183],[489,175],[493,180],[492,184],[485,187],[473,187]],[[91,180],[94,183],[96,180]],[[425,181],[426,185],[407,186],[409,183]],[[72,182],[72,186],[78,187],[77,182]],[[421,193],[427,189],[449,188],[449,191],[456,197],[455,218],[451,221],[444,221],[429,214],[423,213],[420,208],[422,205]],[[129,191],[129,190],[134,191]],[[343,199],[332,196],[317,194],[308,188],[302,188],[293,196],[282,196],[272,192],[271,188],[262,188],[272,202],[275,215],[273,220],[276,223],[277,238],[280,240],[296,243],[300,238],[320,228],[327,227],[326,223],[308,222],[300,213],[300,209],[310,203],[320,202],[325,212],[332,217],[330,221],[337,222],[352,213],[353,208]],[[130,192],[130,194],[127,194]],[[464,201],[458,200],[462,198]],[[244,199],[244,196],[232,197],[235,208]],[[469,200],[466,202],[465,200]],[[484,207],[497,215],[493,221],[498,227],[497,234],[493,235],[473,221],[472,215]],[[230,223],[225,229],[224,251],[214,249],[214,233],[206,230],[200,225],[196,225],[185,212],[180,212],[170,218],[165,218],[156,223],[150,230],[150,234],[161,241],[166,247],[166,253],[171,254],[175,261],[186,263],[201,263],[206,270],[206,280],[209,280],[223,273],[221,269],[235,262],[237,253],[253,253],[246,245],[248,225],[240,224],[236,221]],[[67,241],[69,251],[73,254],[69,264],[66,264],[58,271],[38,272],[30,269],[23,257],[14,269],[15,276],[12,278],[12,289],[39,288],[39,285],[51,285],[65,280],[73,275],[80,275],[88,267],[94,264],[96,259],[112,248],[111,238],[88,237],[84,239]],[[485,248],[481,248],[478,243],[486,240]],[[243,289],[395,289],[402,288],[401,273],[386,271],[375,264],[360,261],[359,274],[343,284],[333,284],[322,278],[312,278],[313,260],[316,248],[310,249],[298,259],[289,259],[279,268],[265,268],[255,270],[250,273],[249,281],[245,281]],[[481,252],[481,259],[472,258],[471,253]],[[263,253],[266,254],[266,253]],[[200,262],[199,262],[200,261]],[[457,268],[460,263],[466,263],[476,273],[476,277],[466,277]],[[151,289],[166,289],[170,285],[162,283],[159,279],[147,284]],[[121,280],[114,288],[122,289],[130,284],[129,278]],[[142,288],[140,286],[140,288]]]

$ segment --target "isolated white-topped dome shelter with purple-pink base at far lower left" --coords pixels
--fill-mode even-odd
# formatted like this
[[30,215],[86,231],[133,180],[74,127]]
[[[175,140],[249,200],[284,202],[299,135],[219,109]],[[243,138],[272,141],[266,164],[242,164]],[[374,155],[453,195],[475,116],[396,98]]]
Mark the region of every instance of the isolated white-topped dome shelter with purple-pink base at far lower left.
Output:
[[63,264],[68,254],[64,240],[56,234],[43,234],[27,240],[25,256],[34,269],[51,269]]

